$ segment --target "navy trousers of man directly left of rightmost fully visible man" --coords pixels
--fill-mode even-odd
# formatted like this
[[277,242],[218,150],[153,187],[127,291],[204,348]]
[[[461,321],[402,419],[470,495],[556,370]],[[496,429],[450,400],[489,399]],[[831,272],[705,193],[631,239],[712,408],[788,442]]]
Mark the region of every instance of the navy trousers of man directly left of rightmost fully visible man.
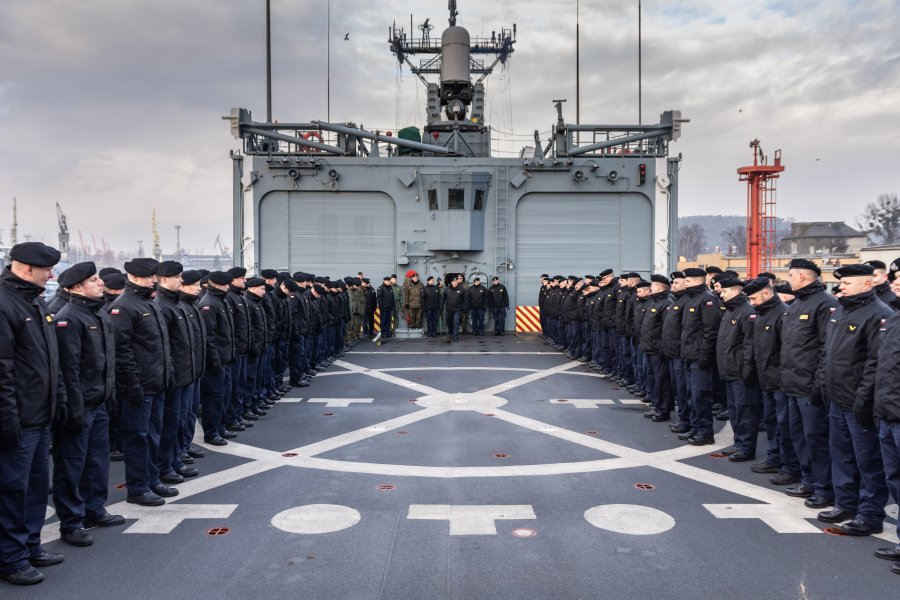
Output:
[[788,396],[791,440],[800,461],[800,480],[826,500],[834,498],[828,448],[828,408],[813,406],[809,396]]

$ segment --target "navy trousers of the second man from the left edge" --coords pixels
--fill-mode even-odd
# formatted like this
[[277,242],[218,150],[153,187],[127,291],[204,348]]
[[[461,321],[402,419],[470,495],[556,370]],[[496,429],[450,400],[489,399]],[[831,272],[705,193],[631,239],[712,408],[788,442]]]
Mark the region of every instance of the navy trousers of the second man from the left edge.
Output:
[[53,439],[53,505],[59,530],[84,528],[85,517],[106,512],[109,485],[109,416],[85,408],[84,429],[62,429]]

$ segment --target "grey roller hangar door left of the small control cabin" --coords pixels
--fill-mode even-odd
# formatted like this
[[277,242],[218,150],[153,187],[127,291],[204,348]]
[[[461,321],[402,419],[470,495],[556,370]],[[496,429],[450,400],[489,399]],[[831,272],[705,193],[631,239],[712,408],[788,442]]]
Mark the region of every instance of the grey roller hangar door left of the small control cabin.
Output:
[[380,282],[397,269],[394,212],[387,194],[272,192],[259,204],[259,264]]

